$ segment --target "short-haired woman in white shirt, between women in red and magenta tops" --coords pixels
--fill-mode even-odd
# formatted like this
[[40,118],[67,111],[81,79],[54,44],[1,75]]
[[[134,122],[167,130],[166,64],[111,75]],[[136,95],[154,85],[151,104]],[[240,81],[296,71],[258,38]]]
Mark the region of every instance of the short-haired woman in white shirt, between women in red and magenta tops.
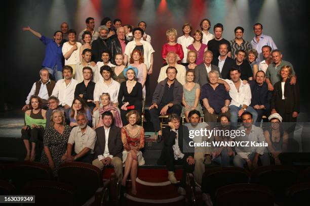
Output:
[[184,58],[181,60],[181,64],[183,66],[186,66],[188,65],[187,64],[187,52],[188,52],[187,46],[189,46],[193,42],[193,38],[191,37],[191,31],[192,31],[191,25],[189,23],[184,24],[182,27],[182,31],[183,31],[183,36],[180,36],[177,39],[177,43],[182,45]]

